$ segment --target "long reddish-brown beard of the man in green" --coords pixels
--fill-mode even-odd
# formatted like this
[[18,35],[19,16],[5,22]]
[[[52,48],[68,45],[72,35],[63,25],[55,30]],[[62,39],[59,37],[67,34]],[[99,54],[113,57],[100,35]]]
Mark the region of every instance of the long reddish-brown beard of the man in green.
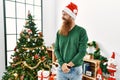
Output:
[[[64,18],[63,18],[64,19]],[[65,20],[65,19],[64,19]],[[61,29],[59,31],[59,33],[63,36],[67,36],[70,29],[72,27],[72,20],[71,19],[68,19],[68,20],[65,20],[63,23],[62,23],[62,26],[61,26]]]

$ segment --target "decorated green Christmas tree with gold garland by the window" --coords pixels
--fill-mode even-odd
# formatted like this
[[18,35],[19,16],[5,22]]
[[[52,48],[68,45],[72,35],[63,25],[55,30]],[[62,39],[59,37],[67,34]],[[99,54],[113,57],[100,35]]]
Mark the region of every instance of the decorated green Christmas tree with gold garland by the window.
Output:
[[2,80],[37,80],[39,70],[49,70],[52,60],[44,45],[42,32],[35,27],[33,16],[28,12],[24,29],[17,40],[12,62]]

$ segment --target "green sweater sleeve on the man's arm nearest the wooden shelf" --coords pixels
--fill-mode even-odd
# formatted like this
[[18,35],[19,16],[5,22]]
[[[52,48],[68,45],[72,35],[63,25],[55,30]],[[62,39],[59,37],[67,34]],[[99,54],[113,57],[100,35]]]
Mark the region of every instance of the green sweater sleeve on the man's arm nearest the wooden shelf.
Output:
[[88,36],[86,33],[86,30],[83,29],[81,36],[80,36],[80,41],[79,41],[79,47],[78,47],[78,53],[74,58],[72,59],[72,62],[74,65],[78,60],[82,60],[86,54],[86,47],[87,47],[87,41],[88,41]]

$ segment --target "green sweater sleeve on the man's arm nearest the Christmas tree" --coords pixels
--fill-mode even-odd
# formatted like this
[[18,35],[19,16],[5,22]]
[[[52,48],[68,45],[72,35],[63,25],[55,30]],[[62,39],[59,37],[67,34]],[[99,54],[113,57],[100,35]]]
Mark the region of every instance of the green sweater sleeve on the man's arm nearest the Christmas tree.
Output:
[[60,66],[64,63],[62,56],[60,55],[60,49],[59,49],[59,33],[57,32],[56,35],[56,41],[55,41],[55,47],[54,47],[54,53],[55,56],[57,57],[58,63]]

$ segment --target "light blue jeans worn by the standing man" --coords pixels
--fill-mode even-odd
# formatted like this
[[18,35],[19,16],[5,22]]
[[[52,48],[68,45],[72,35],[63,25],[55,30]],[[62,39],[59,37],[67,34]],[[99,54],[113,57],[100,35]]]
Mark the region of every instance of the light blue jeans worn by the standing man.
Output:
[[61,67],[58,67],[57,80],[82,80],[82,66],[73,67],[68,73],[63,73]]

